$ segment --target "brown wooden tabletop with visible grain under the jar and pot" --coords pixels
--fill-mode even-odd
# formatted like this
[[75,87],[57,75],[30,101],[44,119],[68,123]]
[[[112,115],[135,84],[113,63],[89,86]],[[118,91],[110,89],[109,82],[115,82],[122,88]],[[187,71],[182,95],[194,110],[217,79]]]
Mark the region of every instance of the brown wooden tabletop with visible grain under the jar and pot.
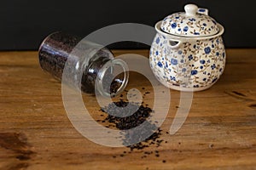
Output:
[[[148,50],[116,50],[115,55],[148,55]],[[256,49],[228,49],[224,75],[210,89],[195,93],[189,116],[174,135],[167,134],[179,92],[161,126],[166,143],[128,153],[84,138],[68,120],[61,83],[42,71],[37,52],[0,53],[0,169],[255,169]],[[127,89],[152,91],[137,74]],[[83,94],[100,119],[93,95]],[[144,102],[152,105],[153,93]],[[159,151],[144,156],[145,151]],[[123,154],[124,151],[127,154]],[[121,156],[123,155],[123,156]],[[163,162],[165,161],[165,162]]]

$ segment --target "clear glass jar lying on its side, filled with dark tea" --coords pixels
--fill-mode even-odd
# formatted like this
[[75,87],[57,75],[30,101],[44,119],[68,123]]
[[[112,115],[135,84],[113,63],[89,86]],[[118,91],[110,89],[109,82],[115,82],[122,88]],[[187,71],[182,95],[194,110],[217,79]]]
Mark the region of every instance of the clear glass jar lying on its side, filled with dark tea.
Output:
[[108,48],[63,32],[46,37],[38,57],[44,71],[86,94],[114,96],[128,82],[128,66],[122,59],[114,59]]

